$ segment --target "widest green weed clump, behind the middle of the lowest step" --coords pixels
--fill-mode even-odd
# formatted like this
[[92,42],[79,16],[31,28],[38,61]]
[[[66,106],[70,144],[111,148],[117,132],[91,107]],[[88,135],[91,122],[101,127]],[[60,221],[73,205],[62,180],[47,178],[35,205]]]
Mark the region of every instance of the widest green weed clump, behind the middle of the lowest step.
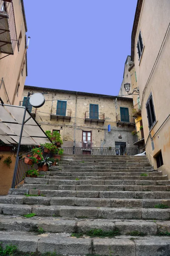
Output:
[[114,237],[114,236],[119,236],[120,231],[119,229],[115,230],[109,230],[109,231],[103,231],[102,229],[91,229],[85,233],[72,233],[71,236],[75,236],[77,238],[82,237],[83,235],[85,236],[90,236],[90,237],[100,237],[100,238],[105,238],[105,237]]

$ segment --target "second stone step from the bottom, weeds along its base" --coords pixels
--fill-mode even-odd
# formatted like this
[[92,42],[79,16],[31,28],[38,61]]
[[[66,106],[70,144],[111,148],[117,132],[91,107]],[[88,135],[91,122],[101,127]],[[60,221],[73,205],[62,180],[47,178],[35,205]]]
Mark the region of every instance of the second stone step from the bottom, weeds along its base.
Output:
[[64,218],[56,219],[55,217],[14,217],[3,216],[0,218],[0,230],[15,230],[33,232],[41,227],[45,232],[49,233],[87,233],[91,229],[102,229],[103,231],[119,230],[120,235],[127,235],[130,232],[138,230],[139,233],[145,235],[156,235],[159,232],[169,232],[170,221],[144,221],[144,220],[90,220],[75,219],[67,220]]

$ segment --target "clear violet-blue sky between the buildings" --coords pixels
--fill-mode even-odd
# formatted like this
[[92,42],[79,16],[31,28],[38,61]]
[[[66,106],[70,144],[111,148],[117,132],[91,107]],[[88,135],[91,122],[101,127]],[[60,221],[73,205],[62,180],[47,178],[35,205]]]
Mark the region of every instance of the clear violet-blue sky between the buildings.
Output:
[[24,0],[26,85],[117,95],[137,0]]

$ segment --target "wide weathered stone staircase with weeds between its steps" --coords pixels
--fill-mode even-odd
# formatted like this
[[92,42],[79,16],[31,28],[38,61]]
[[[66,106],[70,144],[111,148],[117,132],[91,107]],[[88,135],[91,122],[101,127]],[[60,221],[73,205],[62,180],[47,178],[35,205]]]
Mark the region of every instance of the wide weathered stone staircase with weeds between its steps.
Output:
[[170,208],[155,208],[170,207],[170,180],[145,156],[63,156],[40,175],[0,196],[2,247],[35,255],[170,256]]

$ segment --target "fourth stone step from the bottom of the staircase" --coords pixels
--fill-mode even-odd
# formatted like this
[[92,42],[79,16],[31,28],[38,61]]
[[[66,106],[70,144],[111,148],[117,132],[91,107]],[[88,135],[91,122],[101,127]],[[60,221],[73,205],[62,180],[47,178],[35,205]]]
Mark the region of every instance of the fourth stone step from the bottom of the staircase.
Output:
[[[53,197],[52,197],[53,192]],[[38,190],[29,190],[31,195],[38,195]],[[82,207],[123,207],[123,208],[154,208],[155,205],[164,204],[170,207],[170,199],[118,199],[118,198],[77,198],[56,197],[51,191],[51,197],[8,195],[0,196],[0,204],[43,204],[57,206],[82,206]]]

